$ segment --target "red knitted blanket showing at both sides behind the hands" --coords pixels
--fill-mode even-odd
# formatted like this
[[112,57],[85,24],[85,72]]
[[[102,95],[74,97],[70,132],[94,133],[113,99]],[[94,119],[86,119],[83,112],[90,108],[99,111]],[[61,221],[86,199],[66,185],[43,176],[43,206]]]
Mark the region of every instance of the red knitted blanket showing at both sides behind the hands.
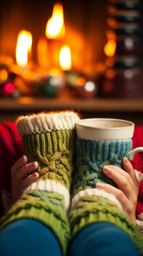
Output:
[[[133,148],[143,146],[143,126],[136,126]],[[22,138],[14,123],[0,124],[0,217],[11,204],[11,166],[23,155]],[[136,154],[132,161],[134,169],[143,173],[143,152]],[[138,172],[137,172],[138,173]],[[143,213],[143,182],[139,186],[136,216]]]

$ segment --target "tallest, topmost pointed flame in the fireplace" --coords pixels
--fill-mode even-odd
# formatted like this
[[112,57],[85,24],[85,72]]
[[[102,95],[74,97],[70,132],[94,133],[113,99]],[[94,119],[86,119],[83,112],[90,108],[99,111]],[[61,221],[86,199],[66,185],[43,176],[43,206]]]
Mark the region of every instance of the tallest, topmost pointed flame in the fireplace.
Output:
[[64,14],[61,3],[55,3],[52,17],[46,25],[46,37],[49,39],[61,39],[65,36]]

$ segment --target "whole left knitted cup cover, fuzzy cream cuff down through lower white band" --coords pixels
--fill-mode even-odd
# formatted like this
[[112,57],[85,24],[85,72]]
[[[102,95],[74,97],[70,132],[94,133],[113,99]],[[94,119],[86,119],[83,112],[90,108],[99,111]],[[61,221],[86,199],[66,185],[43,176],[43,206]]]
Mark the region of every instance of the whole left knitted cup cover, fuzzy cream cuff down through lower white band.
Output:
[[[64,195],[66,207],[69,207],[77,120],[79,117],[73,111],[18,117],[17,127],[23,135],[24,153],[29,162],[38,162],[40,175],[34,187],[30,185],[25,193],[31,189],[58,192]],[[51,182],[45,182],[47,180]]]

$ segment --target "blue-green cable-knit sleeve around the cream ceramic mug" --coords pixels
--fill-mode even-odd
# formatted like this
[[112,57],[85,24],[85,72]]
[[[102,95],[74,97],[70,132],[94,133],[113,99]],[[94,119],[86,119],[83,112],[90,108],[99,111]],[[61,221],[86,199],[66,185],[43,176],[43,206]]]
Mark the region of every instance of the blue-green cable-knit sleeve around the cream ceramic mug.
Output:
[[123,157],[132,149],[132,141],[76,140],[76,171],[73,179],[74,195],[86,188],[94,188],[97,182],[116,184],[103,174],[105,165],[121,167]]

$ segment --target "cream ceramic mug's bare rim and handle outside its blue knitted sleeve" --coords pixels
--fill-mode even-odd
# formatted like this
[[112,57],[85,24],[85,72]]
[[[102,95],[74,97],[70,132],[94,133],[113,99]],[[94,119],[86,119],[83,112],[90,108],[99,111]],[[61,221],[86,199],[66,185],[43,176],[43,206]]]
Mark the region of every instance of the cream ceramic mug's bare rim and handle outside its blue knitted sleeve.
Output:
[[[121,119],[90,118],[76,122],[77,137],[94,141],[127,141],[132,140],[134,123]],[[133,160],[136,153],[143,147],[135,148],[128,153],[128,159]]]

